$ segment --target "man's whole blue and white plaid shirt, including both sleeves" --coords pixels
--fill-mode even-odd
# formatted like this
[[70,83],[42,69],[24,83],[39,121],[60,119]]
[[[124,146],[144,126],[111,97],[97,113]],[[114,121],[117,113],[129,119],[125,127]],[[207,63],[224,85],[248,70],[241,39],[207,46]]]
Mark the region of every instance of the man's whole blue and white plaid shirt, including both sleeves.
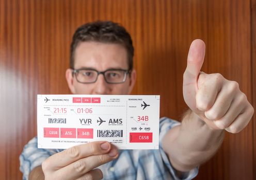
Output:
[[[159,125],[159,150],[119,150],[119,158],[110,161],[99,168],[104,179],[192,179],[198,174],[195,168],[178,177],[162,148],[162,139],[168,130],[180,122],[161,118]],[[60,149],[38,149],[37,137],[31,139],[20,155],[20,170],[23,179],[28,179],[29,172],[40,166],[49,156],[58,153]]]

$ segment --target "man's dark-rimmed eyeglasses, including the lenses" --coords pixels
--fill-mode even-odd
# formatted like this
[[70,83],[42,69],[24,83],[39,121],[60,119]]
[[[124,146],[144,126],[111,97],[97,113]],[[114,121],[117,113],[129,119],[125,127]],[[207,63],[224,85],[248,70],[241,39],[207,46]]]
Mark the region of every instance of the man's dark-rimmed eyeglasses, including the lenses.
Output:
[[118,84],[123,83],[126,80],[127,74],[130,70],[124,69],[107,69],[105,71],[98,71],[90,68],[74,69],[73,75],[78,82],[89,84],[97,81],[98,76],[102,74],[107,83]]

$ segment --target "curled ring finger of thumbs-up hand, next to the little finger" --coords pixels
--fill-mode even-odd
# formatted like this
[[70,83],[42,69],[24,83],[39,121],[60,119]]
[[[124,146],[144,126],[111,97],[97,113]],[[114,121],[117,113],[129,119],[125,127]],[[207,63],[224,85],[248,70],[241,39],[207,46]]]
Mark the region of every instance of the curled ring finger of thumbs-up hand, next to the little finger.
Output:
[[245,111],[245,101],[247,99],[244,93],[233,99],[227,113],[222,118],[214,120],[215,125],[222,130],[228,128],[236,117]]

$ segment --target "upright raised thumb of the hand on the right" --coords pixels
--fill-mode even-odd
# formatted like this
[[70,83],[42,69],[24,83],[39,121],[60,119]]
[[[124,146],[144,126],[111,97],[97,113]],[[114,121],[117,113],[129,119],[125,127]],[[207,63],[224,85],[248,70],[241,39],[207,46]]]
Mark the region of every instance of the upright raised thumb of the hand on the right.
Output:
[[184,82],[195,82],[199,76],[205,55],[205,44],[202,40],[194,40],[187,56],[187,68],[184,73]]

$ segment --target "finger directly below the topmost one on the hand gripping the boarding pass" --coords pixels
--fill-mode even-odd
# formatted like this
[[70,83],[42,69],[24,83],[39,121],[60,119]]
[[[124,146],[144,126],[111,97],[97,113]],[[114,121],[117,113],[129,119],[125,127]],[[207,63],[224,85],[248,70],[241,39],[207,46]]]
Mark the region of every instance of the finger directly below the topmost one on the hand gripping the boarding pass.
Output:
[[108,161],[114,160],[117,157],[118,151],[115,147],[112,147],[111,151],[107,154],[88,156],[57,170],[56,176],[63,177],[65,179],[76,179],[92,169],[97,168]]

